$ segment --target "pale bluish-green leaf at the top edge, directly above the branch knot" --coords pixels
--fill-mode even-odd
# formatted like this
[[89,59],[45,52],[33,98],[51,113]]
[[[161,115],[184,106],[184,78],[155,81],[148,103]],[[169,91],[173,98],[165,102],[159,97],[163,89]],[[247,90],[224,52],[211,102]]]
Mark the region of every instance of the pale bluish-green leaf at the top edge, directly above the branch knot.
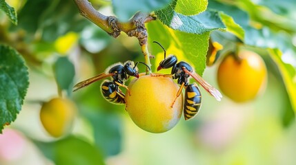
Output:
[[120,21],[128,21],[136,12],[152,12],[166,7],[172,0],[112,0],[113,11]]

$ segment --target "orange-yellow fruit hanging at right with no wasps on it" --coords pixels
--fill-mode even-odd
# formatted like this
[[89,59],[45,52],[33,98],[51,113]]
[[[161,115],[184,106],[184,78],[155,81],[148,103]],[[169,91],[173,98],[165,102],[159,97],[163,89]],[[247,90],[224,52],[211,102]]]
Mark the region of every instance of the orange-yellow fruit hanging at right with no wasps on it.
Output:
[[217,80],[224,95],[236,102],[246,102],[265,88],[266,74],[266,66],[258,54],[241,50],[237,56],[234,53],[225,56]]

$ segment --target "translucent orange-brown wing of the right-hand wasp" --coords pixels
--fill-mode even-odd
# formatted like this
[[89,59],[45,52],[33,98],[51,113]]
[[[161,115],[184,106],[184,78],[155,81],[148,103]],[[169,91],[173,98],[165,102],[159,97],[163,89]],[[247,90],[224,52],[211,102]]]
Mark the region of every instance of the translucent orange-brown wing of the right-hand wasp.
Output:
[[215,89],[215,87],[207,83],[206,80],[204,80],[204,78],[201,78],[201,76],[199,76],[199,74],[195,72],[190,72],[186,68],[182,69],[186,74],[189,74],[191,77],[193,77],[197,81],[197,83],[201,85],[201,87],[204,87],[204,89],[206,89],[206,91],[208,91],[210,95],[214,96],[216,100],[221,101],[222,95],[220,91],[218,91],[217,89]]

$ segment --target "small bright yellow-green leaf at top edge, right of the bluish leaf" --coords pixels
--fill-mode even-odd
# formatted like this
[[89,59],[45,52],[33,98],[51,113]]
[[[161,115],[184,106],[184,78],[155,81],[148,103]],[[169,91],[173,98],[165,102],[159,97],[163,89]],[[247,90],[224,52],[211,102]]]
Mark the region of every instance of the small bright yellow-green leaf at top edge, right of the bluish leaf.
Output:
[[177,0],[175,12],[184,15],[196,15],[206,10],[208,0]]

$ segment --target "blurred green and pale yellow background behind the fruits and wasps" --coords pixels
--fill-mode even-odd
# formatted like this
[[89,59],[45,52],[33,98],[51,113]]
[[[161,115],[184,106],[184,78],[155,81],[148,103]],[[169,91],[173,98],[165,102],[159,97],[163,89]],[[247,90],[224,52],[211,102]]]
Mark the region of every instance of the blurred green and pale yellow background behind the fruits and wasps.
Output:
[[[296,100],[289,100],[281,72],[266,51],[251,47],[262,55],[268,69],[266,90],[255,100],[239,104],[224,97],[217,102],[201,89],[203,104],[194,119],[185,121],[182,116],[170,131],[148,133],[132,122],[124,105],[103,99],[101,81],[74,94],[71,92],[73,84],[104,72],[113,63],[144,61],[137,39],[126,34],[112,39],[81,17],[73,1],[6,2],[17,10],[19,23],[12,25],[4,12],[0,12],[0,43],[14,47],[23,55],[29,67],[30,87],[17,120],[0,135],[0,164],[296,164],[296,123],[291,105]],[[103,14],[112,15],[111,1],[91,2]],[[232,2],[219,1],[224,5]],[[279,17],[294,16],[295,20],[296,4],[292,0],[254,3],[270,8]],[[209,1],[209,6],[214,8],[219,4]],[[268,17],[244,10],[253,21],[256,18],[266,21]],[[284,40],[275,40],[290,51],[292,57],[288,59],[292,60],[288,61],[293,63],[295,30],[288,23],[272,24],[270,19],[262,21],[262,25],[280,29],[275,34]],[[273,40],[269,41],[272,44]],[[61,58],[70,61],[69,67],[54,67]],[[161,58],[151,59],[153,72]],[[219,60],[207,67],[203,74],[214,87],[217,87],[218,63]],[[69,69],[73,65],[75,71]],[[71,75],[75,72],[72,85],[63,88],[63,95],[77,104],[79,113],[71,133],[54,138],[43,129],[39,111],[42,102],[59,96],[59,77],[55,73],[63,69]],[[145,67],[139,69],[144,72]]]

